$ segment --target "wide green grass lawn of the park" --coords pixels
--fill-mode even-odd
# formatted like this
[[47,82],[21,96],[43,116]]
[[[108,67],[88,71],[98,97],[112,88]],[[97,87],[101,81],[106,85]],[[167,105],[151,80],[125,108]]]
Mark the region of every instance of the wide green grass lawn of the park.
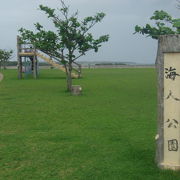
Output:
[[65,92],[65,76],[41,70],[0,83],[0,179],[179,180],[154,163],[154,69],[83,70],[83,95]]

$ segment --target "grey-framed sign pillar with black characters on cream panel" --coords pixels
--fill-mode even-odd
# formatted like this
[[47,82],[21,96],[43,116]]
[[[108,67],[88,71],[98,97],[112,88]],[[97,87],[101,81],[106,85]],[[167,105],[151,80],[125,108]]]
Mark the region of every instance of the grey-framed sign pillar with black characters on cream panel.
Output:
[[158,133],[156,161],[162,169],[180,170],[180,35],[160,36]]

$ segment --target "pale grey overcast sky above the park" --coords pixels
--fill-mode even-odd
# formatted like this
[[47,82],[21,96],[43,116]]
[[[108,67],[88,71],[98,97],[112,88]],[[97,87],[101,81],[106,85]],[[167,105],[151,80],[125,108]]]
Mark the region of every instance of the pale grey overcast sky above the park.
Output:
[[[40,22],[47,28],[53,26],[38,9],[39,4],[58,7],[58,0],[1,0],[0,48],[16,49],[18,29],[33,29]],[[92,32],[95,36],[109,34],[98,53],[89,52],[81,60],[87,61],[131,61],[154,63],[157,41],[142,35],[133,35],[135,25],[145,25],[155,10],[165,10],[179,17],[176,0],[65,0],[72,11],[79,10],[79,17],[105,12],[104,20]]]

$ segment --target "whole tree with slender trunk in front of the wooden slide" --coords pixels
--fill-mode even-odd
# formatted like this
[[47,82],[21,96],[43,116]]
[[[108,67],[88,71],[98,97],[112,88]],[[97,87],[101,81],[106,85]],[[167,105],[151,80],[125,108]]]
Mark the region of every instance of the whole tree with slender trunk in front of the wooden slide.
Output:
[[61,62],[66,70],[67,89],[72,87],[72,63],[87,51],[98,52],[103,42],[108,41],[109,35],[95,39],[89,30],[105,17],[104,13],[97,13],[83,20],[78,20],[78,11],[70,14],[69,6],[60,0],[61,8],[52,9],[40,5],[39,8],[53,22],[56,31],[45,30],[40,23],[35,24],[36,32],[21,28],[23,41],[30,42],[35,48],[50,55]]

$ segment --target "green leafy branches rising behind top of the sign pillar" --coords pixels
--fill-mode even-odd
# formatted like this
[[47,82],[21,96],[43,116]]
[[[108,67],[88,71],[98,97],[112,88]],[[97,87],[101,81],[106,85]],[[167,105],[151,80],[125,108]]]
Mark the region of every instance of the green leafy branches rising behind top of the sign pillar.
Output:
[[155,26],[146,24],[145,27],[135,26],[135,33],[158,39],[160,35],[180,34],[180,18],[173,19],[167,12],[155,11],[150,18],[155,21]]

